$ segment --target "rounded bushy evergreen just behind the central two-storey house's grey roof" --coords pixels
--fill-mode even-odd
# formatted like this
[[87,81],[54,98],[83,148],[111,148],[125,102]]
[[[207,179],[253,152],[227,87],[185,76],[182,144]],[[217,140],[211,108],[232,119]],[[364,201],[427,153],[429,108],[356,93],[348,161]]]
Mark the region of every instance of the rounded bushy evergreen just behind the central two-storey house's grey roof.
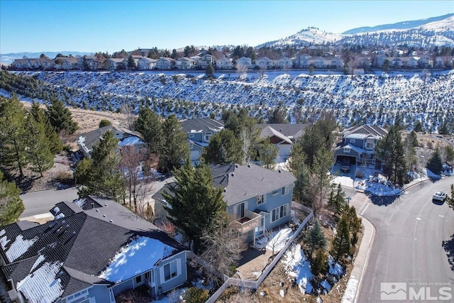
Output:
[[209,164],[241,163],[243,160],[241,142],[233,131],[223,129],[211,136],[201,158]]

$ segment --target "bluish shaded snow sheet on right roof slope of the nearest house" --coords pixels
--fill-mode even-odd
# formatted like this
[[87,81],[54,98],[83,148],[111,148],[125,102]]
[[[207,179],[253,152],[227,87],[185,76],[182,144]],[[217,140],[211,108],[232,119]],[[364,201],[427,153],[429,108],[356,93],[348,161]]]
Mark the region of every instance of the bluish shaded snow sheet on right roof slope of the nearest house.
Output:
[[119,250],[98,277],[121,282],[150,269],[150,265],[167,258],[176,248],[153,238],[138,236]]

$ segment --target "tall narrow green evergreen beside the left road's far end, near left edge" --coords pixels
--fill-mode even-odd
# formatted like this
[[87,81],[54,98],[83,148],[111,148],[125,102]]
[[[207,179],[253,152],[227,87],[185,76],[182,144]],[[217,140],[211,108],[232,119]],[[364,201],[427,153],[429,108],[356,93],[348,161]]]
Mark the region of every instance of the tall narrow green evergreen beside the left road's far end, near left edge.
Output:
[[54,165],[54,155],[50,150],[50,143],[45,133],[43,121],[35,120],[32,114],[27,119],[27,156],[33,172],[39,172],[43,177],[43,172],[49,170]]

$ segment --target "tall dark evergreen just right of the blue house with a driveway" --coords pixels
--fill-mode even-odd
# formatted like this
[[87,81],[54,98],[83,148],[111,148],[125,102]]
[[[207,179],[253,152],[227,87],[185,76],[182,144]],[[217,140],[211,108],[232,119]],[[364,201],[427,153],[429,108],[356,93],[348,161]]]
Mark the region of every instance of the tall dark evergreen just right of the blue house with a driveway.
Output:
[[404,184],[406,174],[404,144],[397,126],[392,126],[387,135],[377,142],[375,152],[384,162],[384,174],[389,176],[393,183]]

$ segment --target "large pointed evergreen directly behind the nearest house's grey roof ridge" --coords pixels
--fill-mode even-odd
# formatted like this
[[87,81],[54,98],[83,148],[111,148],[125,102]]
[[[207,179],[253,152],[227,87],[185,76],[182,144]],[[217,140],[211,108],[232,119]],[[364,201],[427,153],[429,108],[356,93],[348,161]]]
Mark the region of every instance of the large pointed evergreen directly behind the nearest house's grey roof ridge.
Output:
[[[120,156],[116,152],[118,140],[114,133],[106,131],[101,140],[93,145],[92,158],[76,167],[77,180],[84,185],[80,197],[95,194],[116,201],[125,198],[123,176],[118,170]],[[82,183],[84,182],[84,183]]]

